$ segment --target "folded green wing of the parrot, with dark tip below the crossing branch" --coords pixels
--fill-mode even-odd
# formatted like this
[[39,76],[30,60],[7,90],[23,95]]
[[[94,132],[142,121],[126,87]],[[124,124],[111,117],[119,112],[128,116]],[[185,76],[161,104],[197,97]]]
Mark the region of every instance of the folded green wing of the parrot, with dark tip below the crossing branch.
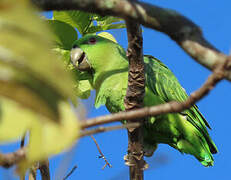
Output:
[[[158,59],[152,56],[145,56],[146,64],[146,83],[154,95],[158,96],[164,102],[169,101],[185,101],[188,98],[187,93],[182,88],[174,74]],[[151,77],[151,78],[150,78]],[[211,140],[207,128],[210,128],[208,122],[194,105],[190,109],[181,112],[205,138],[210,152],[217,153],[217,148]],[[190,132],[189,132],[190,133]]]

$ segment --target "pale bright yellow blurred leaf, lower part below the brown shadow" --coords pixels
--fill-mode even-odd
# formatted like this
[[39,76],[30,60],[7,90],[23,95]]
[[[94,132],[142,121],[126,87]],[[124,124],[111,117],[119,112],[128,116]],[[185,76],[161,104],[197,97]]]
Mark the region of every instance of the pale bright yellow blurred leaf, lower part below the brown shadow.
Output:
[[5,143],[22,137],[29,131],[26,159],[19,164],[24,172],[34,162],[60,153],[70,148],[78,138],[79,123],[76,114],[66,102],[59,104],[60,123],[48,120],[23,108],[19,103],[7,98],[0,101],[0,142]]

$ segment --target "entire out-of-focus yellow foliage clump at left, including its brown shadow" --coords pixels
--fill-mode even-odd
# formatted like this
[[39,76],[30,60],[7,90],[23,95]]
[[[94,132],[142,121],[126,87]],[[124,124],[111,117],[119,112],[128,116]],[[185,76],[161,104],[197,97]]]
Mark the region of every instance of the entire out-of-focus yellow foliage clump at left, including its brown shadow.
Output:
[[51,48],[51,32],[29,0],[0,0],[0,143],[29,132],[25,171],[71,147],[79,125],[73,79]]

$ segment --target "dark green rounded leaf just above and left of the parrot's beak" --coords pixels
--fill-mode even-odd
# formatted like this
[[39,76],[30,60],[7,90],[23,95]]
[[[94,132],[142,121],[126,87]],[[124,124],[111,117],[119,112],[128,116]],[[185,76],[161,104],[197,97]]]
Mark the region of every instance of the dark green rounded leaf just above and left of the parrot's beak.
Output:
[[53,31],[56,45],[61,49],[71,49],[73,42],[78,39],[76,30],[62,21],[48,20],[48,23]]

